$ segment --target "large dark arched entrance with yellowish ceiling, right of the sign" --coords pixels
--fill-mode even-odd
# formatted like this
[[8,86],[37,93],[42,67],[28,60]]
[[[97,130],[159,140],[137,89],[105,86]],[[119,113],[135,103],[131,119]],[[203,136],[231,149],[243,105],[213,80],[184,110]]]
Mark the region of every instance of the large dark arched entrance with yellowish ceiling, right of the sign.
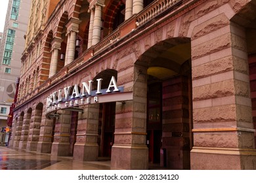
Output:
[[140,59],[148,65],[146,144],[150,169],[190,169],[190,47],[190,39],[170,39],[152,46]]

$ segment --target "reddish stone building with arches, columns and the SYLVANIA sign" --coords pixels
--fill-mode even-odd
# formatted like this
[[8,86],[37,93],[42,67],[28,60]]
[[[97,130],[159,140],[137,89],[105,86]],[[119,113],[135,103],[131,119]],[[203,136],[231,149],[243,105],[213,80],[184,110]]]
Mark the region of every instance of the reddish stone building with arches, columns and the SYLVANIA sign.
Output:
[[27,34],[9,146],[112,169],[256,169],[256,1],[34,3],[51,10]]

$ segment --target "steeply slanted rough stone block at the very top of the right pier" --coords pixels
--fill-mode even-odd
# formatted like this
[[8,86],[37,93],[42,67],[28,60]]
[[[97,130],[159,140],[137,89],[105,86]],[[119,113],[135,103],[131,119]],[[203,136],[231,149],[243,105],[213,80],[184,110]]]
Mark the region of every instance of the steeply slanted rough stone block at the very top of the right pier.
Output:
[[221,29],[228,24],[229,20],[226,15],[224,13],[219,14],[218,16],[215,16],[214,18],[211,18],[210,20],[207,20],[206,22],[203,22],[202,24],[194,27],[191,39],[194,40],[202,37],[203,35],[207,35],[213,31]]

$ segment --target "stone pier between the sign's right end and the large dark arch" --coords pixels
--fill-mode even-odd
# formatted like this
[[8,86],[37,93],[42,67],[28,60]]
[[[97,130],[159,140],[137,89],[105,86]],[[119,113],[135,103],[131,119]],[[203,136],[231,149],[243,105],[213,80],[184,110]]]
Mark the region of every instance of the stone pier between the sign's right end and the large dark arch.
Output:
[[[133,101],[117,103],[115,139],[112,146],[112,169],[148,169],[146,146],[146,68],[136,66],[133,80]],[[130,73],[127,73],[127,76]],[[125,76],[123,76],[125,78]],[[125,78],[126,79],[126,78]],[[123,82],[117,80],[117,82]]]

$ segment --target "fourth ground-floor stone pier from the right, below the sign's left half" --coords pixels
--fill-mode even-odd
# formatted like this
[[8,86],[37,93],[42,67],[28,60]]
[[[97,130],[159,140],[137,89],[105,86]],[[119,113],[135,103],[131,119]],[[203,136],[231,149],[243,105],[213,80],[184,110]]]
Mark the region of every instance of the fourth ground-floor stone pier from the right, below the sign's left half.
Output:
[[70,156],[71,112],[62,110],[58,113],[60,113],[60,118],[56,118],[51,154],[54,156]]

